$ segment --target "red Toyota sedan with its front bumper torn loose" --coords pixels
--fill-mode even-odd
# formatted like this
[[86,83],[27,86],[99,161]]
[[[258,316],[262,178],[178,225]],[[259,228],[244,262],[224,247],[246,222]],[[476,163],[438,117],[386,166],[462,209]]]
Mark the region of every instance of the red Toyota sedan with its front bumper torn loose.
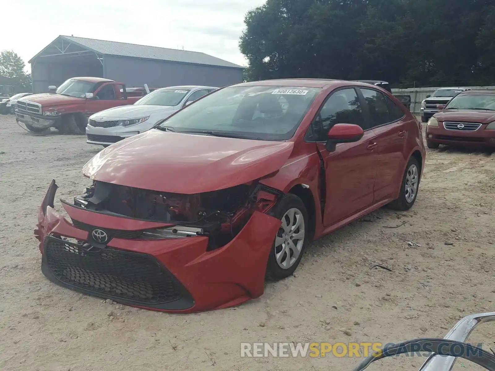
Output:
[[92,184],[39,210],[42,271],[132,306],[197,312],[263,293],[308,242],[390,204],[415,202],[420,124],[390,93],[337,80],[220,89],[105,148]]

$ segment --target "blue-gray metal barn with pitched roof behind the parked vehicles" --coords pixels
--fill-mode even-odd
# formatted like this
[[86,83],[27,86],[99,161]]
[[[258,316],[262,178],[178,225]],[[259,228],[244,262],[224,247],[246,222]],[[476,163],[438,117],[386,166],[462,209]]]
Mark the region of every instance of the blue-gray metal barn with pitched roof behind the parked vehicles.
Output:
[[241,83],[244,67],[197,51],[59,36],[30,61],[33,92],[48,92],[77,76],[123,82],[127,87]]

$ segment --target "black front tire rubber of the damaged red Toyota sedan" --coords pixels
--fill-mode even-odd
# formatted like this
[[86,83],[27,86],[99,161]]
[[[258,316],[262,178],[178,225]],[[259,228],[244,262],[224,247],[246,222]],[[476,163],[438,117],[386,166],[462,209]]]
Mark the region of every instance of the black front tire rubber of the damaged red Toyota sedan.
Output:
[[[282,246],[281,245],[276,246],[277,238],[275,238],[275,240],[273,241],[272,249],[270,251],[270,256],[268,257],[268,263],[266,266],[265,278],[267,280],[277,281],[277,280],[280,280],[282,278],[286,278],[286,277],[291,276],[294,273],[294,271],[297,269],[297,266],[299,265],[299,263],[301,261],[302,255],[304,254],[304,250],[305,250],[307,242],[308,242],[309,224],[308,224],[307,210],[306,210],[306,207],[304,206],[304,203],[302,202],[302,200],[299,197],[297,197],[295,194],[291,194],[291,193],[286,194],[277,203],[277,205],[274,206],[274,208],[270,211],[269,215],[271,215],[277,219],[282,220],[284,215],[291,209],[299,210],[300,215],[302,215],[302,218],[304,221],[304,226],[303,226],[304,237],[302,239],[302,247],[301,247],[299,256],[297,257],[296,261],[290,267],[282,268],[277,263],[277,259],[276,259],[276,253],[277,253],[277,251],[280,252],[282,250]],[[297,232],[298,230],[300,232],[299,228],[294,230],[294,232]],[[277,231],[277,236],[281,237],[283,233],[284,233],[284,229],[281,227]],[[291,256],[293,256],[292,253],[290,253],[290,254],[291,254]],[[287,253],[285,253],[285,255],[283,255],[282,258],[284,256],[287,259]]]

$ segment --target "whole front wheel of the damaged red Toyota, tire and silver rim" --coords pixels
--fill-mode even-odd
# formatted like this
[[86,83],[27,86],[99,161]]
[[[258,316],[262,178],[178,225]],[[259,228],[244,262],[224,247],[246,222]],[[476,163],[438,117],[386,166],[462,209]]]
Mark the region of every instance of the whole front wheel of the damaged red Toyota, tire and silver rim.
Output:
[[291,276],[299,265],[308,240],[308,215],[304,203],[294,194],[285,195],[270,212],[280,226],[268,257],[266,279]]

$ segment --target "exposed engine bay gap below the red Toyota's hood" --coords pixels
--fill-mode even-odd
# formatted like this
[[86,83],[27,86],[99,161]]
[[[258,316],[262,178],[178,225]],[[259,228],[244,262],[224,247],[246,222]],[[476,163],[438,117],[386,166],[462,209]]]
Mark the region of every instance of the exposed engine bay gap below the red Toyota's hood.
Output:
[[159,192],[95,181],[74,205],[128,218],[198,227],[209,236],[210,249],[228,243],[254,211],[268,212],[283,192],[250,184],[196,194]]

